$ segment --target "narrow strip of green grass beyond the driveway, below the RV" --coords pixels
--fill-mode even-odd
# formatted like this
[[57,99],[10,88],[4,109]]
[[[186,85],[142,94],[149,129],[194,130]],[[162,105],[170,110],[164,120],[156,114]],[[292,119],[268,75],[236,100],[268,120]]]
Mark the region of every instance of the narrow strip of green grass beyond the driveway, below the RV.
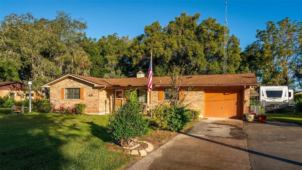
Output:
[[302,115],[289,115],[289,114],[266,114],[267,121],[271,122],[289,122],[302,124]]

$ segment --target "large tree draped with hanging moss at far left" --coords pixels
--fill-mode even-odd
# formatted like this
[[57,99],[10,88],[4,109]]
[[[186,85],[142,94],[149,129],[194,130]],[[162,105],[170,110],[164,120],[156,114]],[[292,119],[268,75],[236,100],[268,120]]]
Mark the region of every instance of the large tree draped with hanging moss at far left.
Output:
[[30,13],[4,17],[0,27],[0,81],[33,80],[34,89],[62,74],[88,75],[91,64],[79,46],[86,23],[58,11],[54,20]]

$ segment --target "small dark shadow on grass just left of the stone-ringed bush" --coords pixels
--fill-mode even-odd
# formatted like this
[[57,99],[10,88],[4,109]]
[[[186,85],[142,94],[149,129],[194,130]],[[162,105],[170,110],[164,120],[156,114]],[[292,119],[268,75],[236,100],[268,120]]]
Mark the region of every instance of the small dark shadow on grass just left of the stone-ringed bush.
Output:
[[94,122],[85,122],[89,125],[90,132],[93,136],[101,139],[104,142],[114,142],[106,127],[95,124]]

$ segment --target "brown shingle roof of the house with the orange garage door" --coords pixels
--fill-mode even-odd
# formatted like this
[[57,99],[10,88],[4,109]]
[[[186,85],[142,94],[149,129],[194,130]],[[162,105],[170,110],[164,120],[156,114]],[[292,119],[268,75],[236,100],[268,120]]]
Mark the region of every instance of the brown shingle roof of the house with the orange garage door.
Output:
[[[96,77],[82,76],[77,74],[67,74],[67,75],[71,75],[72,77],[78,77],[88,82],[95,83],[99,86],[107,86],[107,87],[146,86],[148,81],[147,77],[96,78]],[[170,86],[169,79],[170,77],[165,77],[165,76],[153,77],[153,86]],[[52,82],[55,83],[56,81],[53,80],[50,83]],[[44,85],[48,85],[48,84],[51,85],[50,83],[46,83]],[[193,86],[235,86],[235,85],[256,86],[258,85],[258,82],[254,73],[184,76],[182,85],[189,85],[189,84]]]

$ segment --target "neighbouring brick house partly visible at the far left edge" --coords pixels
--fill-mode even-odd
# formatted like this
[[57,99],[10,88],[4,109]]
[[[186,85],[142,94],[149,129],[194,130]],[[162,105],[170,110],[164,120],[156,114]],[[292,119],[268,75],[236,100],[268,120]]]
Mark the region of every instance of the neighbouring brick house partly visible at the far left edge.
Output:
[[[19,81],[3,81],[0,82],[0,96],[8,96],[15,101],[29,99],[29,92],[26,91],[27,84]],[[36,90],[31,91],[31,99],[42,99],[40,93]]]

